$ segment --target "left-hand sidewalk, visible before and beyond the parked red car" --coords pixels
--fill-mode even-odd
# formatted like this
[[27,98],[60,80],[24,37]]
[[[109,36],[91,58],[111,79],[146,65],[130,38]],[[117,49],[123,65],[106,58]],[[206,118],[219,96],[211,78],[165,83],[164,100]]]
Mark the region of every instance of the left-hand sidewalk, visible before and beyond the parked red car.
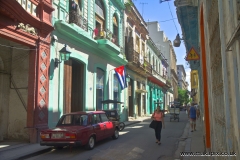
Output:
[[[129,118],[129,121],[124,122],[125,126],[129,126],[135,123],[140,123],[144,120],[150,119],[150,117],[138,117]],[[21,159],[29,155],[35,155],[50,151],[52,147],[40,146],[39,143],[27,143],[27,142],[12,142],[4,141],[0,142],[0,159],[1,160],[15,160]]]

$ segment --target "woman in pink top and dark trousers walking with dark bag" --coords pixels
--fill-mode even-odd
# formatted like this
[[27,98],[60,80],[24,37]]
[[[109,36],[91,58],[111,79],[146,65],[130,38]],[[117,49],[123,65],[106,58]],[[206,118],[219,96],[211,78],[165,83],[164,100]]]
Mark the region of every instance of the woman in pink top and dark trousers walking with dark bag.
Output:
[[161,144],[161,130],[162,130],[162,127],[165,128],[164,116],[163,116],[163,113],[160,110],[160,106],[158,106],[157,109],[152,114],[152,119],[156,123],[155,128],[154,128],[156,143],[158,145],[160,145]]

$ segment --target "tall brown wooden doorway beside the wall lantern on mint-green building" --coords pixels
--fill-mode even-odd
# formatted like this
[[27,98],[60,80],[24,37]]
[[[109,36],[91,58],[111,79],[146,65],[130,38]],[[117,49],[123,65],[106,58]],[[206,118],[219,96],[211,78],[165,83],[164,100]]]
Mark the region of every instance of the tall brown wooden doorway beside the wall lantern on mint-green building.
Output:
[[64,62],[64,113],[83,111],[83,63],[70,58]]

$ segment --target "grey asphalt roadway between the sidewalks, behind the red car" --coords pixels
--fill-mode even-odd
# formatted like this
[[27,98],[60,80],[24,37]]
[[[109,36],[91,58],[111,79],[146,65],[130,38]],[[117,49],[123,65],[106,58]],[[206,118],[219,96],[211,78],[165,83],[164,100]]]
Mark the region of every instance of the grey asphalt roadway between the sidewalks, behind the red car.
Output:
[[119,139],[108,138],[98,142],[90,151],[83,147],[52,149],[27,160],[173,160],[188,119],[184,111],[180,113],[179,122],[170,122],[169,116],[164,118],[161,145],[155,143],[154,130],[149,128],[148,120],[127,126],[120,132]]

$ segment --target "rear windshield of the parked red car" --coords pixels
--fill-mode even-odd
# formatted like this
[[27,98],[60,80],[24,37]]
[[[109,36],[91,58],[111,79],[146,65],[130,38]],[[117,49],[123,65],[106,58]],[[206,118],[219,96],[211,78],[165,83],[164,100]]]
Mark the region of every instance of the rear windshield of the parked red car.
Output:
[[57,126],[70,126],[70,125],[88,125],[88,115],[76,114],[76,115],[63,115],[59,120]]

